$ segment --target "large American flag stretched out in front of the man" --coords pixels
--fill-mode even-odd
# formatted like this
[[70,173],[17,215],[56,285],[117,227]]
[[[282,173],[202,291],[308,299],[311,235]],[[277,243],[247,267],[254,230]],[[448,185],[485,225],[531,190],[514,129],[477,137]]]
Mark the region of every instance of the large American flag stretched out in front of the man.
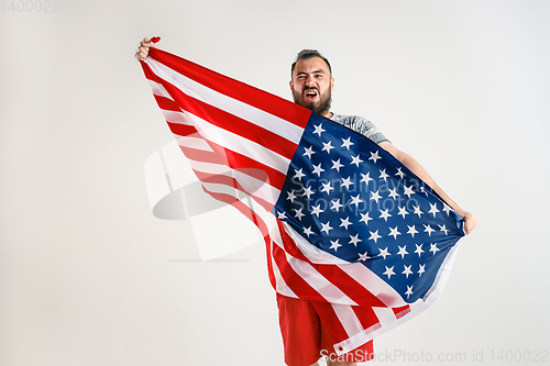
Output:
[[[261,231],[275,290],[332,303],[344,340],[338,354],[440,296],[462,218],[389,153],[162,49],[151,48],[142,66],[205,191]],[[362,321],[363,307],[377,323]]]

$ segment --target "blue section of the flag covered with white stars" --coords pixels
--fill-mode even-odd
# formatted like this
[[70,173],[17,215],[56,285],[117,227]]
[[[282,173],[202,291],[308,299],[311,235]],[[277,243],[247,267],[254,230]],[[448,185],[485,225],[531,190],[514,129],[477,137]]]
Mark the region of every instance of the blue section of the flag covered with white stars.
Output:
[[407,302],[431,288],[462,218],[389,153],[311,114],[273,213],[318,248],[360,262]]

